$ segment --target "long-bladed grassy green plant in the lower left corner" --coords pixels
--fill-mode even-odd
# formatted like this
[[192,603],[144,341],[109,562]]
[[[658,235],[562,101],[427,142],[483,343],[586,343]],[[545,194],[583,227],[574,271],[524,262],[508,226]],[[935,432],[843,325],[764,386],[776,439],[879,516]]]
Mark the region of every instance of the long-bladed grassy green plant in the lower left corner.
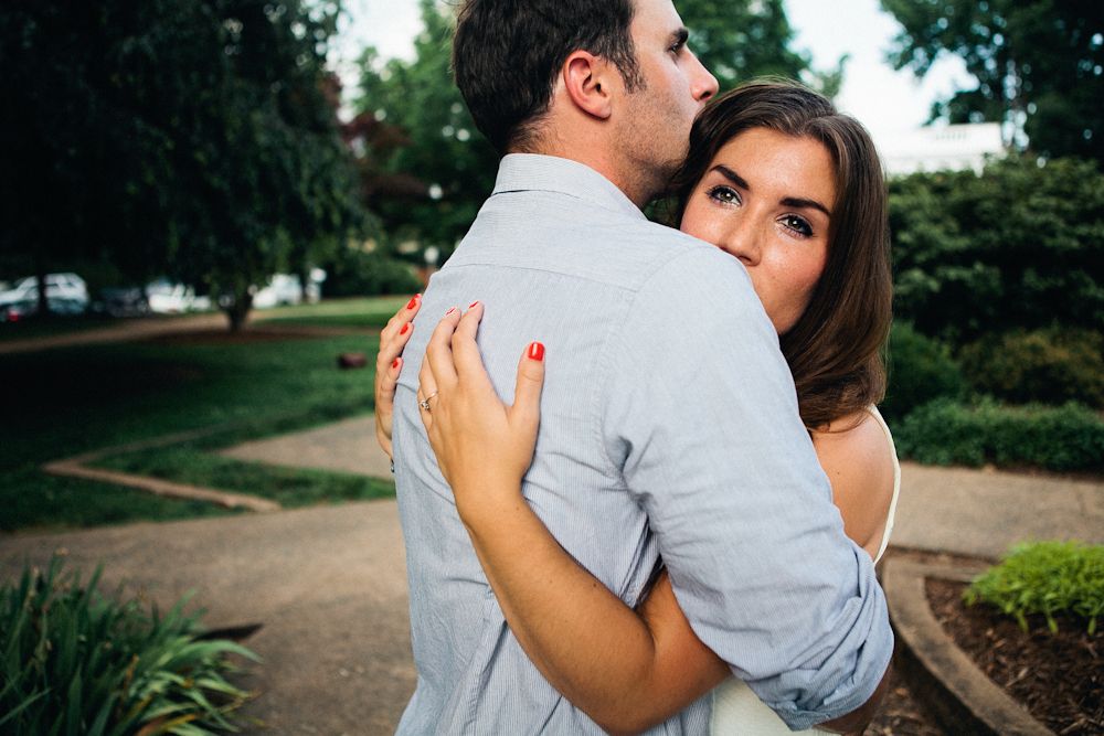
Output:
[[0,588],[0,733],[201,736],[238,730],[232,714],[248,693],[225,676],[230,654],[257,660],[226,640],[205,641],[187,598],[164,616],[119,601],[62,573],[24,569]]

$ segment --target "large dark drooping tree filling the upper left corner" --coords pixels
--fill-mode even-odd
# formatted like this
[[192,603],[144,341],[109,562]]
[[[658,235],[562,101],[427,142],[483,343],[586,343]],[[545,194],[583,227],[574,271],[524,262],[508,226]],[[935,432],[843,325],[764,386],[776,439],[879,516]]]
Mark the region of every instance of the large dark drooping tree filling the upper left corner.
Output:
[[[240,327],[361,209],[325,70],[336,2],[0,8],[6,249],[205,287]],[[19,172],[15,180],[13,172]]]

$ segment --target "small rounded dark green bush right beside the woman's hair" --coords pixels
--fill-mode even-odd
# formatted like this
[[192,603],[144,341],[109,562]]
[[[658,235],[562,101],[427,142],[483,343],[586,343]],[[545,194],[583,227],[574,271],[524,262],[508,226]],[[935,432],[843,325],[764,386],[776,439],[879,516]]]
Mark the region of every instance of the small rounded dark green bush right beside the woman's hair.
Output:
[[890,331],[888,363],[889,387],[881,404],[887,417],[901,418],[933,399],[965,394],[966,380],[947,346],[906,322],[894,322]]

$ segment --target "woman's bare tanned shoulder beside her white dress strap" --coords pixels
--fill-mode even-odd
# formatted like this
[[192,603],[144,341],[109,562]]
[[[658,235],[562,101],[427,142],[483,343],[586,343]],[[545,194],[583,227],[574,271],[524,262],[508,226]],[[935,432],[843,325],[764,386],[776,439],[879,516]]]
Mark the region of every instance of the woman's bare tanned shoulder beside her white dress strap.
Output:
[[881,425],[860,409],[813,431],[820,467],[831,481],[843,531],[877,556],[893,500],[893,448]]

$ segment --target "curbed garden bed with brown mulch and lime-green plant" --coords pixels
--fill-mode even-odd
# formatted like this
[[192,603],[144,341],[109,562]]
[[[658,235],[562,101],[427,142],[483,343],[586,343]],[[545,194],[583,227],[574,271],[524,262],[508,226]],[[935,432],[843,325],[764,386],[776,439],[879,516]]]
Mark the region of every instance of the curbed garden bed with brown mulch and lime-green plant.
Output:
[[899,669],[933,725],[1104,733],[1104,547],[1023,544],[998,565],[898,551],[884,574]]

